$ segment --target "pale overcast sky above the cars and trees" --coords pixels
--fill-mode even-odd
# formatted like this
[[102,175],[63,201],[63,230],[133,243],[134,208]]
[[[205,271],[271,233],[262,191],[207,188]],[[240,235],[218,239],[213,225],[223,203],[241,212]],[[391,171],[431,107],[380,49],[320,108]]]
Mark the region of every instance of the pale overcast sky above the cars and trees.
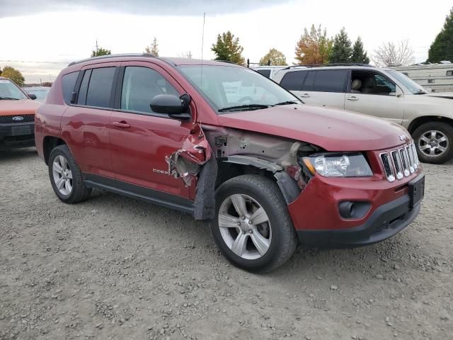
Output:
[[424,62],[451,8],[451,0],[0,0],[0,68],[16,67],[26,83],[53,81],[69,62],[90,57],[96,40],[112,53],[137,53],[154,37],[161,56],[200,58],[203,13],[204,59],[214,58],[217,34],[231,30],[251,62],[275,47],[292,64],[297,40],[315,24],[329,36],[342,27],[352,41],[360,35],[369,55],[408,39],[415,62]]

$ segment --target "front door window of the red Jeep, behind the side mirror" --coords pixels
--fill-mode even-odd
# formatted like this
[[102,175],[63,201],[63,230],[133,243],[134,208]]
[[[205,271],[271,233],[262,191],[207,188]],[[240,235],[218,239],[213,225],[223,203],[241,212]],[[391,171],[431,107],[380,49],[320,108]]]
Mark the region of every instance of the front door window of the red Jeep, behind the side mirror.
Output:
[[173,94],[178,91],[154,69],[126,67],[122,80],[121,109],[141,113],[152,113],[151,99],[158,94]]

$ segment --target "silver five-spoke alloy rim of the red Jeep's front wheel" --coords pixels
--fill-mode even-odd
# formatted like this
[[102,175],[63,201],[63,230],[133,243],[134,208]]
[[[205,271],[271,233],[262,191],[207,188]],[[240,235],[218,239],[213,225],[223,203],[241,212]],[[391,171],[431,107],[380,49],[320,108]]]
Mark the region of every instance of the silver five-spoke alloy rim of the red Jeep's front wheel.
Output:
[[243,194],[227,197],[219,208],[219,229],[226,244],[242,259],[262,257],[272,241],[268,214],[253,198]]

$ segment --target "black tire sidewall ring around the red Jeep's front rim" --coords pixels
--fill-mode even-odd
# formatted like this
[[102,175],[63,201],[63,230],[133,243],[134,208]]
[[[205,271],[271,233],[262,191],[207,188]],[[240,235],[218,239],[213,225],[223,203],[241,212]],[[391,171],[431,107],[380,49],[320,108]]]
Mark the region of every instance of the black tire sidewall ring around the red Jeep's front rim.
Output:
[[[270,227],[272,228],[272,239],[268,251],[266,251],[266,253],[259,259],[248,260],[234,254],[234,252],[231,251],[231,249],[229,249],[229,247],[226,245],[222,234],[220,233],[218,220],[220,205],[222,205],[222,203],[228,196],[237,193],[250,196],[251,198],[256,200],[263,207],[269,217]],[[226,256],[226,258],[231,262],[233,262],[234,264],[237,263],[239,264],[239,266],[247,268],[250,271],[253,271],[253,269],[259,270],[260,268],[269,266],[270,263],[273,263],[273,261],[275,261],[278,256],[277,253],[281,249],[282,229],[280,228],[280,225],[282,224],[282,221],[279,221],[277,216],[278,214],[277,212],[275,212],[273,202],[267,196],[263,195],[263,193],[260,193],[259,189],[253,186],[253,184],[246,182],[226,182],[222,186],[220,186],[219,189],[217,189],[215,217],[214,220],[212,220],[210,223],[212,236],[214,237],[214,241],[216,242],[217,246],[219,246],[220,251],[222,251],[222,254],[224,254],[224,256]]]

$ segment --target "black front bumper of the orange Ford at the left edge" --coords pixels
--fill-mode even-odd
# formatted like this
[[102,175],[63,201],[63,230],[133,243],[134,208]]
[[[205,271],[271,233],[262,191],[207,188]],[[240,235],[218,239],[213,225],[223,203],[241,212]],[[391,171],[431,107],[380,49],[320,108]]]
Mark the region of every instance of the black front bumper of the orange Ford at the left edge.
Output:
[[0,147],[33,147],[35,123],[0,124]]

